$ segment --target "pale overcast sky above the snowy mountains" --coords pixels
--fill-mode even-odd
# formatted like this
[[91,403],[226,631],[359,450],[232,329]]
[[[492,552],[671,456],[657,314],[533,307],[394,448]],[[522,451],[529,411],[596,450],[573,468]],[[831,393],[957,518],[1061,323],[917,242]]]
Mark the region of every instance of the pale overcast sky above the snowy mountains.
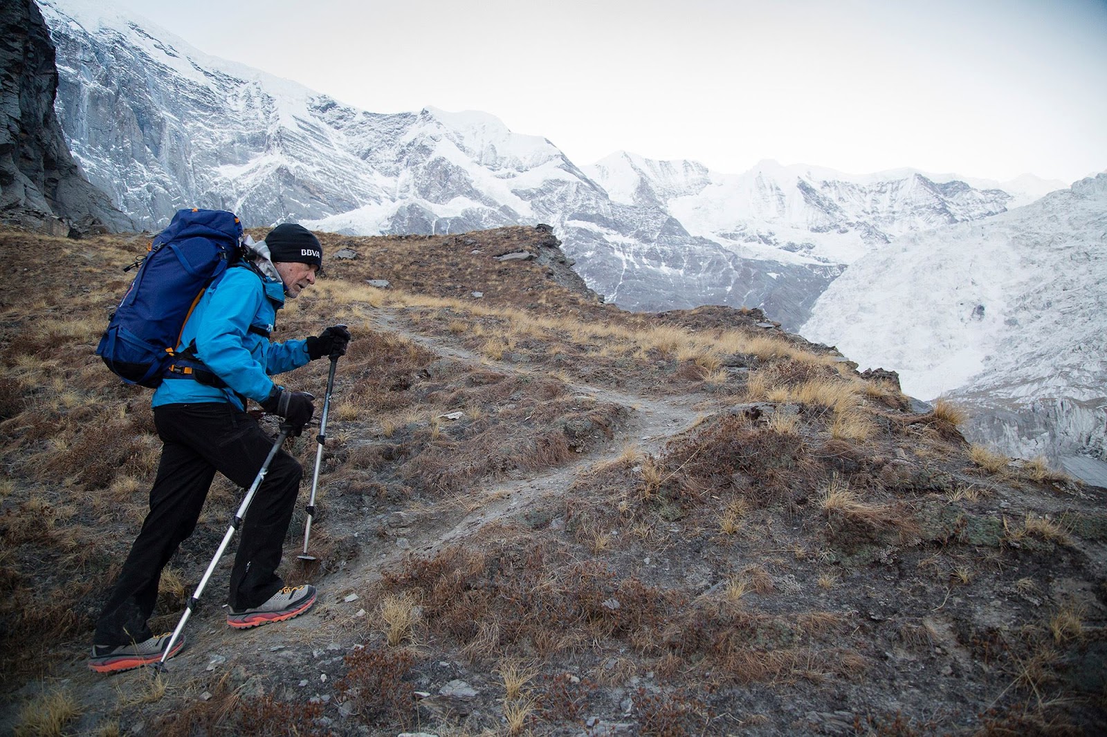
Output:
[[578,164],[1107,169],[1107,0],[116,0],[376,112],[479,110]]

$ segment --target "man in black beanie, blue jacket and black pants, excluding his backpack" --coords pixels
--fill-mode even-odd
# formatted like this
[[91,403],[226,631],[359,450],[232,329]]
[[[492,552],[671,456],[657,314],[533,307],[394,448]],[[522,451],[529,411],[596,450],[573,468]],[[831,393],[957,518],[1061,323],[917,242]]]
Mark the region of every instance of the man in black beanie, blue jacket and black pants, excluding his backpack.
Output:
[[[246,399],[283,417],[299,434],[314,414],[314,397],[279,386],[270,375],[345,353],[350,333],[342,325],[307,340],[269,342],[284,299],[315,283],[323,262],[315,236],[284,224],[251,249],[251,258],[203,293],[175,351],[184,359],[174,359],[154,392],[162,458],[149,512],[96,622],[93,671],[126,671],[162,658],[170,634],[155,636],[146,624],[162,569],[196,527],[215,473],[249,487],[272,448],[273,438],[246,412]],[[230,572],[231,627],[288,620],[315,603],[314,587],[286,587],[276,573],[302,474],[299,461],[281,449],[246,513]],[[168,657],[183,645],[180,637]]]

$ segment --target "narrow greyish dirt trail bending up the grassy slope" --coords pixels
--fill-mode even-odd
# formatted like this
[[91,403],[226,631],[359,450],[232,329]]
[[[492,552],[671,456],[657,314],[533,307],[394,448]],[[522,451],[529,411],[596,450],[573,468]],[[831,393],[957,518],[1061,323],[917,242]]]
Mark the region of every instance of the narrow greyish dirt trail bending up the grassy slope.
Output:
[[[510,362],[490,361],[452,344],[449,339],[414,332],[405,328],[386,308],[374,314],[374,322],[380,330],[411,340],[443,359],[472,366],[492,366],[505,374],[545,373]],[[372,527],[371,519],[365,516],[335,510],[321,518],[314,528],[318,530],[317,534],[343,537],[356,533],[362,549],[349,565],[314,578],[320,587],[320,599],[314,611],[308,616],[284,623],[281,631],[266,631],[267,627],[231,631],[224,625],[225,613],[217,602],[221,595],[221,575],[226,574],[234,558],[232,554],[225,556],[216,577],[219,580],[213,580],[209,584],[200,609],[186,627],[188,646],[169,666],[169,673],[175,674],[170,682],[174,684],[173,688],[194,688],[206,676],[210,676],[210,672],[236,667],[245,667],[245,673],[254,674],[271,669],[284,671],[290,667],[289,658],[293,657],[312,663],[304,673],[314,673],[313,668],[333,668],[334,675],[338,675],[342,655],[353,641],[362,636],[359,632],[372,619],[371,613],[363,611],[363,599],[348,601],[348,595],[364,592],[380,579],[382,570],[399,563],[407,554],[433,556],[451,543],[477,534],[486,526],[517,518],[542,498],[565,492],[579,474],[618,458],[628,447],[655,454],[671,438],[692,427],[701,416],[694,405],[702,397],[695,395],[658,398],[582,383],[569,383],[568,386],[581,398],[627,407],[627,421],[615,428],[610,439],[568,463],[532,474],[517,473],[513,478],[492,482],[482,492],[465,499],[404,510],[403,513],[411,519],[410,527],[400,530],[386,527],[389,533],[383,537],[372,534],[366,527]],[[401,536],[406,540],[403,544],[400,544]],[[291,557],[294,552],[288,548],[286,554]],[[194,582],[189,581],[187,585],[190,593]],[[176,616],[173,619],[175,623]],[[328,655],[331,657],[328,658]],[[89,673],[83,661],[74,662],[66,677],[77,688],[89,718],[110,713],[121,698],[142,699],[151,688],[145,669],[103,678]],[[255,686],[251,684],[260,677],[250,677],[240,686],[241,693],[254,693]],[[312,678],[319,678],[318,673]],[[300,684],[312,691],[303,681]],[[313,687],[327,685],[315,681]]]

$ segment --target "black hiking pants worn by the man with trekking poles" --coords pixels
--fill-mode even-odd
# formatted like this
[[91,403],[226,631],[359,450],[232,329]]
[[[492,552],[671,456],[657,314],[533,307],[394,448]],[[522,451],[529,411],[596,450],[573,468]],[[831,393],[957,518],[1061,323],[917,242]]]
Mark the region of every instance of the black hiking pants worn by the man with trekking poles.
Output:
[[[96,622],[97,645],[153,636],[146,620],[154,612],[162,569],[196,528],[215,473],[249,488],[276,440],[225,403],[162,405],[154,408],[154,424],[164,445],[149,513]],[[302,476],[299,461],[283,449],[273,456],[239,530],[230,572],[232,609],[257,606],[283,585],[276,570]]]

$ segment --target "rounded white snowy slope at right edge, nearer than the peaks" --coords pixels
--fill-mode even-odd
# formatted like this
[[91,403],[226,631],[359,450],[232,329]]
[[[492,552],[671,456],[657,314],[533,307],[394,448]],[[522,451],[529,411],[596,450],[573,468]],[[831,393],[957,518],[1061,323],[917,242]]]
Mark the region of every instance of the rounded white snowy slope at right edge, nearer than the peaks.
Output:
[[856,261],[800,329],[1013,455],[1107,459],[1107,173]]

